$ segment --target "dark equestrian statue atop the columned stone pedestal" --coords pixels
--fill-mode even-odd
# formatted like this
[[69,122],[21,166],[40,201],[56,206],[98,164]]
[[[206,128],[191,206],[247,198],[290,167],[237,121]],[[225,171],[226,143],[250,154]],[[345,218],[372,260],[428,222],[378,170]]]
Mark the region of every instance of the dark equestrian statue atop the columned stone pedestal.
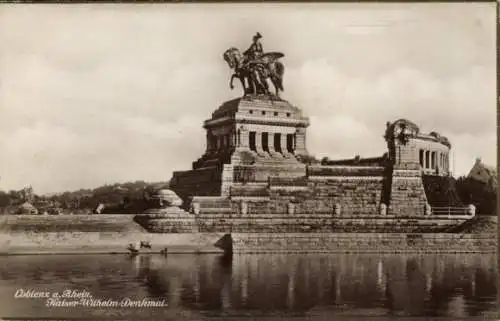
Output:
[[284,57],[284,54],[281,52],[264,53],[261,38],[262,35],[257,32],[250,48],[243,54],[235,47],[224,52],[224,60],[234,71],[229,87],[233,89],[233,80],[238,78],[244,95],[272,96],[269,91],[269,79],[274,86],[276,97],[279,97],[280,91],[284,91],[283,75],[285,73],[285,66],[279,59]]

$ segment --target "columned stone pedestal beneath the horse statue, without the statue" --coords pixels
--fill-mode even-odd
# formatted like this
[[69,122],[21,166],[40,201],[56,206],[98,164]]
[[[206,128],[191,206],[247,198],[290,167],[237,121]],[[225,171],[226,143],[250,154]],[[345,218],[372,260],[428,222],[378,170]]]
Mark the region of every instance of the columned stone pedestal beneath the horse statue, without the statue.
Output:
[[[206,151],[189,171],[175,172],[171,189],[187,203],[192,196],[230,197],[236,177],[262,182],[276,175],[305,175],[296,156],[307,155],[306,128],[309,120],[287,101],[266,96],[242,97],[225,102],[204,122]],[[262,135],[267,134],[268,151]],[[279,144],[275,148],[275,135]],[[250,137],[255,135],[251,143]],[[287,139],[287,137],[289,137]],[[293,137],[293,140],[291,138]],[[287,149],[291,147],[292,151]],[[294,169],[287,171],[288,167]]]

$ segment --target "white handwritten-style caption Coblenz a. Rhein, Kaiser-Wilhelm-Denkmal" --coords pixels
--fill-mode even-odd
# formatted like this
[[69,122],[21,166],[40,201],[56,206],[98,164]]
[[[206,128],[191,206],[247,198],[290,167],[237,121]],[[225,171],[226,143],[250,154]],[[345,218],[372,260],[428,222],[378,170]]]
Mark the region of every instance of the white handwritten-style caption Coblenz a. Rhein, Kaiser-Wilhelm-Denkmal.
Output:
[[121,299],[95,298],[87,290],[63,290],[59,292],[44,292],[33,289],[17,289],[16,299],[41,299],[51,308],[57,307],[90,307],[90,308],[158,308],[166,307],[165,299],[143,298],[140,300],[128,297]]

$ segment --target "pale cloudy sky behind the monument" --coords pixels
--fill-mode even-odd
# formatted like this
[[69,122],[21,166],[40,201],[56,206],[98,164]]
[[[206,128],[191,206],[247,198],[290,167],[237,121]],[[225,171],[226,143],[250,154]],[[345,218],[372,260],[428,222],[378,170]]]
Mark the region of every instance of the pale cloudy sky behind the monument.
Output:
[[0,189],[165,181],[205,150],[222,59],[256,32],[310,154],[380,156],[409,119],[452,143],[454,175],[496,165],[495,3],[0,4]]

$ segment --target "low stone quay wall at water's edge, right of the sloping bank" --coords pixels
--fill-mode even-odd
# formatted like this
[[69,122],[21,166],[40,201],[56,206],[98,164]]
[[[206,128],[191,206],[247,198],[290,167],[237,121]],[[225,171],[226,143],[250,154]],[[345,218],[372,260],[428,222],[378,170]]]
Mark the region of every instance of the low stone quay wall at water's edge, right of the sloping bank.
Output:
[[496,235],[232,233],[233,253],[496,253]]

